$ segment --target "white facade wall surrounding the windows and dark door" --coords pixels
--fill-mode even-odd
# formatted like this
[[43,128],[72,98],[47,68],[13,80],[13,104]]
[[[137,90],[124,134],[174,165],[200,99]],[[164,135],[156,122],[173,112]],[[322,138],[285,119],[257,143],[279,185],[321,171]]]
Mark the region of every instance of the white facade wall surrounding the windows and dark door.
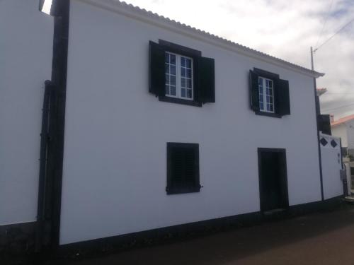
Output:
[[[148,93],[159,38],[215,58],[216,103]],[[290,82],[290,116],[249,108],[249,69]],[[257,148],[286,148],[290,205],[321,199],[313,80],[72,1],[60,244],[259,211]],[[199,143],[200,193],[166,195],[166,142]]]

